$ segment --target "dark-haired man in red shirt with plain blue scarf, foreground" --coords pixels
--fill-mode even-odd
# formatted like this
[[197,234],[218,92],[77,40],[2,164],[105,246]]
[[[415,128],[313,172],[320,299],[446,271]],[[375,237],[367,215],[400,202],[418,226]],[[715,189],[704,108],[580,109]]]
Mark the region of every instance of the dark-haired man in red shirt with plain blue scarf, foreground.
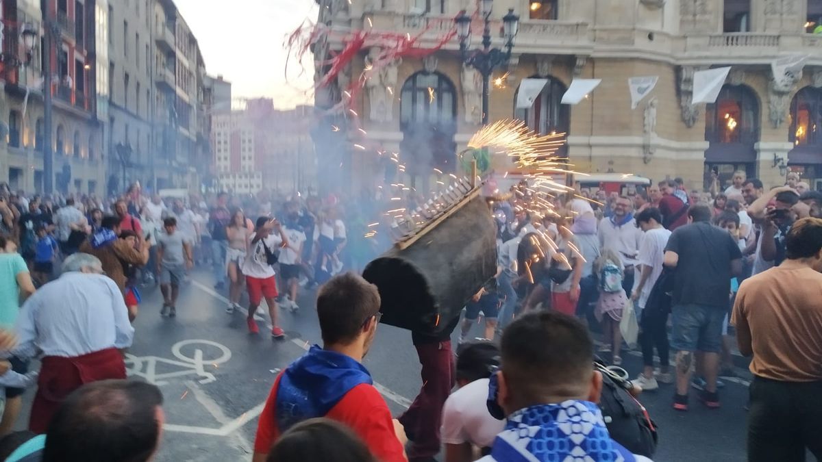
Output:
[[392,421],[362,364],[379,310],[376,286],[358,275],[337,275],[322,285],[316,311],[323,346],[312,346],[275,379],[257,424],[254,462],[266,460],[271,445],[290,427],[317,417],[350,427],[378,460],[405,460],[403,427]]

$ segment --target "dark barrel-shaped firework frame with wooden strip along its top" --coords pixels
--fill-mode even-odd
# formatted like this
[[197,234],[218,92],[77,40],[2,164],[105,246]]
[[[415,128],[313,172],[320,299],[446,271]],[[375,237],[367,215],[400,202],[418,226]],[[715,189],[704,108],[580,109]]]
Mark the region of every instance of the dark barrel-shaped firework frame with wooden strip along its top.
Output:
[[446,193],[419,210],[425,221],[418,230],[363,271],[380,291],[381,322],[437,334],[496,275],[496,225],[480,188],[461,184],[467,193]]

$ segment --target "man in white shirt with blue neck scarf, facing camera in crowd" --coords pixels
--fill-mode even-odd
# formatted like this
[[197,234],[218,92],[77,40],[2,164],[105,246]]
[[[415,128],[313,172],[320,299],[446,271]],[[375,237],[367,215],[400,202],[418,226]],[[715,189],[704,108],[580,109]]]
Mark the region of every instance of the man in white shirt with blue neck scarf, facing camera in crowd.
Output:
[[636,257],[640,254],[642,243],[642,229],[636,227],[633,211],[630,199],[626,196],[618,197],[613,215],[600,220],[598,230],[602,250],[611,249],[620,256],[624,269],[622,289],[625,289],[625,293],[634,290],[634,267],[638,264]]

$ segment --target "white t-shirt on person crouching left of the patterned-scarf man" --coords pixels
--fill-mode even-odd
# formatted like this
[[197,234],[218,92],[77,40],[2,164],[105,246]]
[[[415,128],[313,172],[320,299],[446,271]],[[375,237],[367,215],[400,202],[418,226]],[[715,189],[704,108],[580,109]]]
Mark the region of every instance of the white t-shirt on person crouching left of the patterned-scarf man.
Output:
[[506,427],[496,420],[486,406],[488,379],[472,381],[452,393],[442,407],[441,439],[445,444],[469,442],[479,447],[491,447],[496,435]]

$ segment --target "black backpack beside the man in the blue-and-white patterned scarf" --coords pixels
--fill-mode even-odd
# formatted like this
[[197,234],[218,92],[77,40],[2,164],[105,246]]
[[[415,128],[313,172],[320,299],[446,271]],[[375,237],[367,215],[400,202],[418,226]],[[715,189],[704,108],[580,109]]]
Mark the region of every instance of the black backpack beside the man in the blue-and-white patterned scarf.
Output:
[[628,392],[630,381],[608,372],[603,363],[595,365],[603,374],[599,409],[603,412],[608,433],[633,454],[652,457],[657,449],[657,425],[640,401]]

